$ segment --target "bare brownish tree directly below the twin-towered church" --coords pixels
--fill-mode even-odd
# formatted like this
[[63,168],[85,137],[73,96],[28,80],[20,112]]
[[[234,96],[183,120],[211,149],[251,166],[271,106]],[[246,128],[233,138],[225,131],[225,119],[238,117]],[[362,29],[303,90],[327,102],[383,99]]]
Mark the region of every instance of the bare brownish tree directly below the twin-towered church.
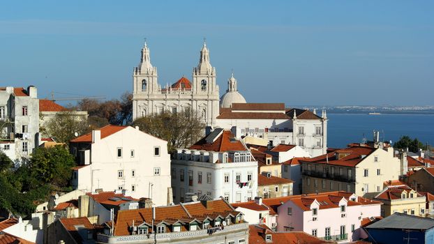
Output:
[[133,125],[139,126],[143,132],[166,140],[169,152],[197,142],[203,136],[205,126],[197,113],[188,110],[150,114],[136,119]]

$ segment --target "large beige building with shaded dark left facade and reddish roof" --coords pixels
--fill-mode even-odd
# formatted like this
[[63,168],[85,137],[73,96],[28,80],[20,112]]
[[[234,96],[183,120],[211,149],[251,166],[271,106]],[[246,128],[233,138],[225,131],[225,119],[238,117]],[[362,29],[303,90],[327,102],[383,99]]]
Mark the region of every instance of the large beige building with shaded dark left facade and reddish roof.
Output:
[[373,197],[383,189],[384,181],[400,176],[401,160],[394,148],[352,144],[315,158],[301,160],[302,192],[345,190]]

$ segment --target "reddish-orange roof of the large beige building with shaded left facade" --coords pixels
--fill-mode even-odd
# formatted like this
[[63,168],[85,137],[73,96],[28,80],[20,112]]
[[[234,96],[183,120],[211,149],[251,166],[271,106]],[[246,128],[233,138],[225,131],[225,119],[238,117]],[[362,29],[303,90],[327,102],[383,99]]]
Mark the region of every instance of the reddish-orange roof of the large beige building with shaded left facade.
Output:
[[[317,156],[315,158],[306,158],[301,162],[313,162],[328,165],[339,165],[347,167],[355,167],[364,157],[370,155],[375,150],[381,148],[373,148],[368,146],[350,146],[349,148],[339,149],[331,153]],[[341,156],[339,156],[341,154]]]

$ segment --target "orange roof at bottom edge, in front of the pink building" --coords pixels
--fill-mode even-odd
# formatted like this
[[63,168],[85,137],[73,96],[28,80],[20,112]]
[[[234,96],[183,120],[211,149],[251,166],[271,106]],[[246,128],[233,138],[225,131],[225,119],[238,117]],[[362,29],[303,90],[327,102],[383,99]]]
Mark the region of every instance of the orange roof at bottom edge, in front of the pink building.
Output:
[[[248,226],[248,243],[267,244],[267,243],[329,243],[315,236],[310,236],[303,231],[274,232],[265,224],[250,224]],[[271,241],[265,241],[265,235],[271,235]]]

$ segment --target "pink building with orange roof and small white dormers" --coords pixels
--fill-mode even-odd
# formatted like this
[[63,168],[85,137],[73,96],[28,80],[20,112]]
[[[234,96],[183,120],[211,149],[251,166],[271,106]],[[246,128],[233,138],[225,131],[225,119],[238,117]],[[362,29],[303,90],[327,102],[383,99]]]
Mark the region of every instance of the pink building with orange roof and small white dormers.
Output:
[[304,231],[338,242],[358,240],[362,219],[380,216],[382,204],[343,191],[263,199],[262,203],[278,214],[276,231]]

